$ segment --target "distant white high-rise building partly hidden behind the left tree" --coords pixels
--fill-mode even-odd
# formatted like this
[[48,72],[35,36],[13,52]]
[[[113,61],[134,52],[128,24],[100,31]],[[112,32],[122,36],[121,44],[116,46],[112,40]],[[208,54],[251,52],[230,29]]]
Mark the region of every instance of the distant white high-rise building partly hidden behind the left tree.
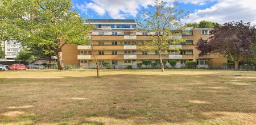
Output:
[[5,41],[5,60],[14,61],[15,57],[18,56],[19,51],[22,49],[22,45],[15,40]]

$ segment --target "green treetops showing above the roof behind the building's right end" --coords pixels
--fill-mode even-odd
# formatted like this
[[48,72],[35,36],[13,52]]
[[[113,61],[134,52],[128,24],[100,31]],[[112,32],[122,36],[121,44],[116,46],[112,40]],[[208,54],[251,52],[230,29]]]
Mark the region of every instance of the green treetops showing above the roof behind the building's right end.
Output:
[[199,23],[185,23],[185,27],[194,27],[194,28],[214,28],[220,27],[221,25],[218,23],[210,22],[207,20],[202,20]]

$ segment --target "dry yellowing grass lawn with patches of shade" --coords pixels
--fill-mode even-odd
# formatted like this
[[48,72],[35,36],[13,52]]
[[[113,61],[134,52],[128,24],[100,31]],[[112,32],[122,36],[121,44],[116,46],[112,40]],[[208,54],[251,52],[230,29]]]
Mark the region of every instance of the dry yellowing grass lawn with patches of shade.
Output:
[[256,124],[256,72],[95,76],[95,70],[0,72],[0,124]]

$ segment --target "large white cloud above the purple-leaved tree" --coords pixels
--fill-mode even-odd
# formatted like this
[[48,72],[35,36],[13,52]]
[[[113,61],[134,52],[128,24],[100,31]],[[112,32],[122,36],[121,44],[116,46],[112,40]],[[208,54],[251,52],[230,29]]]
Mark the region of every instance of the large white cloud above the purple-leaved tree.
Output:
[[243,20],[243,22],[256,24],[256,1],[221,0],[207,9],[196,10],[183,22],[200,22],[201,20],[218,23]]

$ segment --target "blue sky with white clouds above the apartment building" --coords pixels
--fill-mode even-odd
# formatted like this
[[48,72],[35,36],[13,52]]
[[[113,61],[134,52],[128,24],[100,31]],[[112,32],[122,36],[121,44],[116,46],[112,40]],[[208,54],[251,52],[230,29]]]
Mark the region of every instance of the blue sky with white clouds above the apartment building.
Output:
[[[163,0],[172,5],[175,0]],[[256,24],[256,0],[176,0],[178,9],[189,12],[183,23],[209,20],[223,24],[240,21]],[[136,19],[142,11],[152,11],[155,0],[72,0],[73,9],[86,19]]]

